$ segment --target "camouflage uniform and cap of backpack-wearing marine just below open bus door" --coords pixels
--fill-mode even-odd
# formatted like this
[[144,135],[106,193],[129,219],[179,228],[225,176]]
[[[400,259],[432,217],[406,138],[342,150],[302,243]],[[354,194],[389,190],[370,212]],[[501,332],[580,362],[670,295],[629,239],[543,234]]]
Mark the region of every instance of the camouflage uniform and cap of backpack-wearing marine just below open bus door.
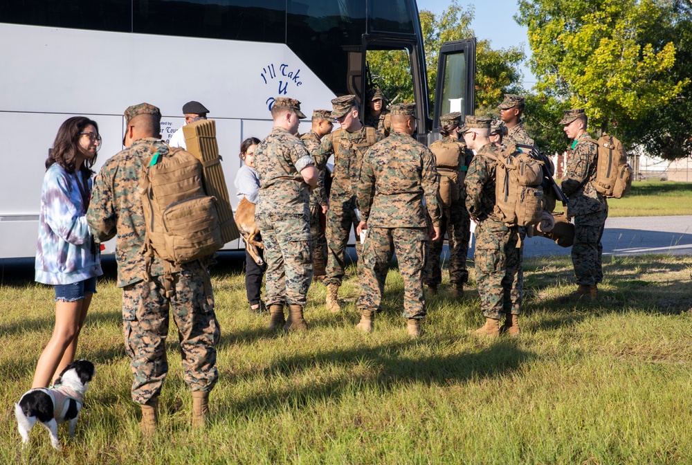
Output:
[[[461,116],[460,113],[451,114],[453,116]],[[455,120],[458,120],[458,116]],[[440,119],[442,120],[443,118],[444,116]],[[441,201],[439,201],[441,210],[440,237],[431,244],[424,277],[424,283],[433,287],[437,287],[442,282],[439,257],[444,244],[445,232],[447,233],[449,244],[449,281],[452,284],[463,284],[464,282],[468,282],[466,254],[468,253],[468,241],[471,239],[471,217],[468,216],[468,211],[466,210],[464,177],[466,176],[468,163],[470,163],[471,158],[473,158],[473,152],[466,149],[466,145],[464,145],[463,141],[459,141],[450,136],[446,136],[442,138],[442,140],[430,145],[430,151],[435,155],[435,163],[437,165],[438,174],[440,175],[444,175],[444,170],[440,167],[437,156],[441,150],[445,149],[444,146],[452,146],[455,149],[458,147],[461,151],[459,165],[455,167],[455,172],[458,172],[457,188],[459,189],[459,200],[452,203],[450,208],[443,208]]]

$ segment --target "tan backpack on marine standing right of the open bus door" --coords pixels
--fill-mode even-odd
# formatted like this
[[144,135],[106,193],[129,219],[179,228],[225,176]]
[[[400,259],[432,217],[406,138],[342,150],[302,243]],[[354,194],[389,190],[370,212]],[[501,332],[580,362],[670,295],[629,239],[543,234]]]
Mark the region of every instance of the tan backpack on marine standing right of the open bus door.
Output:
[[495,158],[495,215],[508,226],[538,224],[543,215],[543,161],[517,152],[514,144]]

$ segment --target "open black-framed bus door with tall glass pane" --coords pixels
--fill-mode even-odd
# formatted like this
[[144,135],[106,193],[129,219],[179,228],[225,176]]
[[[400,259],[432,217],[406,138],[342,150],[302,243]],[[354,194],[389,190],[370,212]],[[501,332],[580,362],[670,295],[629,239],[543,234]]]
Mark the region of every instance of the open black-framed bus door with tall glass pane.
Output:
[[445,42],[439,49],[435,107],[428,145],[438,140],[439,117],[454,111],[473,115],[475,107],[475,46],[476,39]]

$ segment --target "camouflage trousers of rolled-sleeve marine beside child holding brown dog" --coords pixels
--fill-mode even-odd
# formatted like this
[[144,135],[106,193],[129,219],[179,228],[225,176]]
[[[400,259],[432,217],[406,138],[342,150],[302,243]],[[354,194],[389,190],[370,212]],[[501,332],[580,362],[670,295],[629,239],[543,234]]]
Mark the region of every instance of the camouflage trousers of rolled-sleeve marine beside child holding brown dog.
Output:
[[312,280],[312,237],[307,213],[268,212],[255,217],[264,241],[266,305],[307,303]]

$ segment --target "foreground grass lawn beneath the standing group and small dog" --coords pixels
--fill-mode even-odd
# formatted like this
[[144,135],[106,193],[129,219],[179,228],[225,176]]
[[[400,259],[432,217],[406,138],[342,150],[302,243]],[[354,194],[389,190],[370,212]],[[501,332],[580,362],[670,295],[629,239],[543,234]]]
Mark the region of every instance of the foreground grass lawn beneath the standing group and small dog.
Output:
[[[608,257],[598,304],[560,304],[569,257],[525,263],[524,332],[482,340],[474,283],[428,302],[410,340],[396,269],[375,331],[354,329],[351,302],[325,311],[313,286],[305,334],[273,336],[246,309],[242,274],[226,262],[213,284],[222,336],[212,423],[191,430],[176,334],[161,396],[161,432],[140,436],[122,345],[120,291],[100,282],[78,356],[97,365],[75,440],[56,453],[36,427],[22,450],[12,403],[30,387],[53,327],[46,286],[0,288],[0,463],[12,464],[666,464],[692,456],[692,257]],[[5,270],[7,273],[7,270]],[[355,298],[350,277],[342,288]],[[472,272],[473,276],[473,272]]]

